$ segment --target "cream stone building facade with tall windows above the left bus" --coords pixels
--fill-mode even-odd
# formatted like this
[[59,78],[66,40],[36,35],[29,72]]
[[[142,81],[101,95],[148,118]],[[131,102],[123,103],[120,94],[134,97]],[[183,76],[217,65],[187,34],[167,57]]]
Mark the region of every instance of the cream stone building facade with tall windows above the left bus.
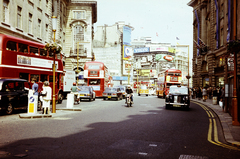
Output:
[[2,0],[0,33],[39,43],[53,41],[52,16],[57,17],[55,39],[62,45],[65,69],[79,70],[93,59],[93,24],[97,2],[92,0]]

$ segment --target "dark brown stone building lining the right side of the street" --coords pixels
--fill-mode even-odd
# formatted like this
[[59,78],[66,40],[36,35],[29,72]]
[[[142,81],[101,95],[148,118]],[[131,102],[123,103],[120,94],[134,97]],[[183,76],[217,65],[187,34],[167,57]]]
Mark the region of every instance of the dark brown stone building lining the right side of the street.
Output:
[[240,19],[236,19],[240,5],[237,3],[236,0],[191,0],[188,3],[194,15],[193,40],[196,46],[199,44],[199,49],[193,49],[193,87],[225,87],[224,111],[233,116],[234,122],[236,118],[240,120],[237,115],[240,58],[227,46],[240,37]]

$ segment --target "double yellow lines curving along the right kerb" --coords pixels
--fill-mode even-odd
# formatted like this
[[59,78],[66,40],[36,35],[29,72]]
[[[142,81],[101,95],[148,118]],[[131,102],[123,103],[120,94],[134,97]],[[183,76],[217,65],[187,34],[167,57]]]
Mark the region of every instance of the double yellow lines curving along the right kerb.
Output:
[[[195,103],[195,104],[199,105],[200,107],[202,107],[209,117],[209,128],[208,128],[208,136],[207,136],[208,141],[210,143],[214,144],[214,145],[217,145],[217,146],[221,146],[221,147],[231,149],[231,150],[240,151],[239,148],[221,143],[218,140],[217,122],[216,122],[216,119],[215,119],[216,117],[214,116],[212,111],[207,106],[205,106],[203,104],[200,104],[200,103],[195,102],[195,101],[192,101],[192,103]],[[212,136],[213,136],[213,139],[212,139]]]

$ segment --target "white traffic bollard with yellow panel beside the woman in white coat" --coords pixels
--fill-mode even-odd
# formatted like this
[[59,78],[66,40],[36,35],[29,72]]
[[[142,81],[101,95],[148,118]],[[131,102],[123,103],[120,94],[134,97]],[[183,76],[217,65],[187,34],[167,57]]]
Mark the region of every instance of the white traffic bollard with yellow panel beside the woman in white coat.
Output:
[[33,90],[28,91],[28,114],[37,114],[38,96],[33,95]]

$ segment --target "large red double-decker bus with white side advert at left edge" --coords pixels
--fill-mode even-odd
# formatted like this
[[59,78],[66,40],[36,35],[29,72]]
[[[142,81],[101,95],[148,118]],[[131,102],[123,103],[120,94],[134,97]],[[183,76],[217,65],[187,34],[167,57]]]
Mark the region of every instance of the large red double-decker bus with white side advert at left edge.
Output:
[[[37,79],[39,92],[43,82],[53,86],[53,53],[44,50],[44,44],[0,34],[0,78]],[[55,95],[57,103],[62,102],[62,56],[55,57]],[[31,87],[31,85],[30,85]]]

